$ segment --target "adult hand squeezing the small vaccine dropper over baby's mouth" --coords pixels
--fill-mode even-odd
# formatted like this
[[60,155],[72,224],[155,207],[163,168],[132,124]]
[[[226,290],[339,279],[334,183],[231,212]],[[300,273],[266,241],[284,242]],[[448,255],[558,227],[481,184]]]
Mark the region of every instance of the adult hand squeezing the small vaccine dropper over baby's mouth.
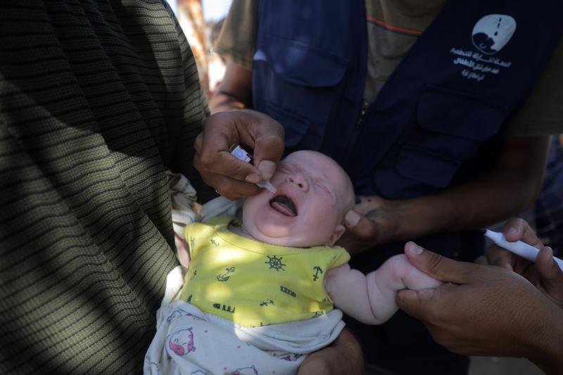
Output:
[[[254,150],[253,165],[229,152],[233,144]],[[258,193],[255,183],[270,179],[284,153],[284,127],[254,110],[211,115],[194,143],[194,166],[203,181],[229,199]]]

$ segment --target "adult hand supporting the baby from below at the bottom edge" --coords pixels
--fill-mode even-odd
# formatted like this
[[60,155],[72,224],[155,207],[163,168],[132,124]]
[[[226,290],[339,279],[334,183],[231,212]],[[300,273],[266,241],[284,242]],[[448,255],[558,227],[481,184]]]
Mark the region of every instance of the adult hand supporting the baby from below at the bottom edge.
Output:
[[364,374],[362,348],[352,333],[343,329],[334,343],[311,353],[299,367],[298,375]]

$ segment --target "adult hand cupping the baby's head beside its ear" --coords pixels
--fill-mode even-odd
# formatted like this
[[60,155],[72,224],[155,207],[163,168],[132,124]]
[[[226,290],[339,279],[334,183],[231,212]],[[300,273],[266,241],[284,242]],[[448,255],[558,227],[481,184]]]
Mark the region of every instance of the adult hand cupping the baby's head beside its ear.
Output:
[[336,244],[355,254],[390,241],[398,228],[398,204],[379,196],[357,196],[354,209],[346,213],[346,231]]

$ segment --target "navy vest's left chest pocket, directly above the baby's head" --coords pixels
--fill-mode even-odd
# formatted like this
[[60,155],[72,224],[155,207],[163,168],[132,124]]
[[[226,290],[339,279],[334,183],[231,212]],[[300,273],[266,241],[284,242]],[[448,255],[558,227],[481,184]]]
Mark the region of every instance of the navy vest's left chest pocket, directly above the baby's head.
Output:
[[286,146],[318,149],[345,74],[346,61],[337,56],[270,37],[254,55],[254,108],[284,125]]

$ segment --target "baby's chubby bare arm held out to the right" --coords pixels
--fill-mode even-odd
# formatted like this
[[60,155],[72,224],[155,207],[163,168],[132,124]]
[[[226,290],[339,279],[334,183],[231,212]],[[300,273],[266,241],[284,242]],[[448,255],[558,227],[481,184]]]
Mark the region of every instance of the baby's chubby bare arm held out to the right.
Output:
[[365,275],[350,265],[329,269],[325,288],[334,305],[365,324],[381,324],[398,310],[397,291],[436,288],[441,281],[413,267],[405,255],[395,255]]

